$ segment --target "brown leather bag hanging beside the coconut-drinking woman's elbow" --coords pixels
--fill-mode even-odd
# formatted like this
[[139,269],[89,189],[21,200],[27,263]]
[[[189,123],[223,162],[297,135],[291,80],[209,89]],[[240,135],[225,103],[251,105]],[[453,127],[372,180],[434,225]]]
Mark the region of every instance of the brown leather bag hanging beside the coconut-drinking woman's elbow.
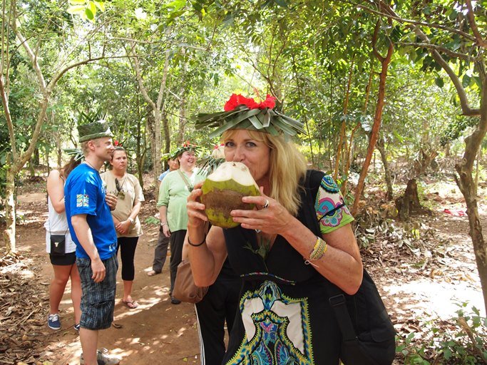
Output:
[[208,287],[197,287],[193,280],[189,259],[183,259],[178,264],[178,272],[173,288],[173,297],[181,302],[198,303],[205,297]]

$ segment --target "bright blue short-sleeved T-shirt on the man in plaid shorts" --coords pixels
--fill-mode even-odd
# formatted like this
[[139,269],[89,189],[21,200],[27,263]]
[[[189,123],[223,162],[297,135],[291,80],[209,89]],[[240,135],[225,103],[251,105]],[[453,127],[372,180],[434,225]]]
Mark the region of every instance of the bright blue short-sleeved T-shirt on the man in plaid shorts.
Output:
[[82,163],[71,171],[66,180],[64,205],[69,231],[76,243],[76,257],[89,258],[71,224],[71,217],[81,214],[86,214],[86,222],[90,226],[100,259],[109,259],[116,255],[117,234],[105,195],[106,190],[100,174],[86,163]]

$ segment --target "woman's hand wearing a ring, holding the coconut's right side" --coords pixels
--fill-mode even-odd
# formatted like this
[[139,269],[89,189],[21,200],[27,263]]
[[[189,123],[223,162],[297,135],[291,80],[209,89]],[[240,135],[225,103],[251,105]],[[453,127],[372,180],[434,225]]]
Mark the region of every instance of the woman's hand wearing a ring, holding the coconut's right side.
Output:
[[232,210],[230,215],[235,222],[242,224],[248,230],[260,230],[262,232],[279,235],[289,229],[292,215],[280,205],[277,200],[264,194],[264,188],[260,187],[260,196],[242,197],[242,202],[255,204],[255,210]]

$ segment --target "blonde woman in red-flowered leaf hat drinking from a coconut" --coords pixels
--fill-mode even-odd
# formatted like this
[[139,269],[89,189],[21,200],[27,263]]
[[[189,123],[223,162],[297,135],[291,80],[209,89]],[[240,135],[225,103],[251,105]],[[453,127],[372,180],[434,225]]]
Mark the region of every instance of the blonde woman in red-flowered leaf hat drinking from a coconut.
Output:
[[260,187],[232,210],[240,226],[205,235],[202,184],[188,197],[188,240],[195,284],[208,286],[228,257],[243,278],[240,305],[222,364],[339,364],[341,334],[324,282],[347,294],[362,282],[362,260],[337,184],[309,170],[291,142],[302,123],[233,94],[225,111],[198,115],[197,128],[222,133],[225,159],[244,163]]

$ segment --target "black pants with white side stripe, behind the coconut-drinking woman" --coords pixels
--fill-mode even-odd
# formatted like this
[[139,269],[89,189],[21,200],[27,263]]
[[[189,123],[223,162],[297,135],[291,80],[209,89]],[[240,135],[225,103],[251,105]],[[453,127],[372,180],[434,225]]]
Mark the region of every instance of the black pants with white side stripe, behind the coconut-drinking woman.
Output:
[[230,334],[238,309],[241,285],[239,277],[225,279],[225,275],[220,274],[208,288],[203,300],[195,305],[202,365],[222,364],[225,355],[225,321]]

